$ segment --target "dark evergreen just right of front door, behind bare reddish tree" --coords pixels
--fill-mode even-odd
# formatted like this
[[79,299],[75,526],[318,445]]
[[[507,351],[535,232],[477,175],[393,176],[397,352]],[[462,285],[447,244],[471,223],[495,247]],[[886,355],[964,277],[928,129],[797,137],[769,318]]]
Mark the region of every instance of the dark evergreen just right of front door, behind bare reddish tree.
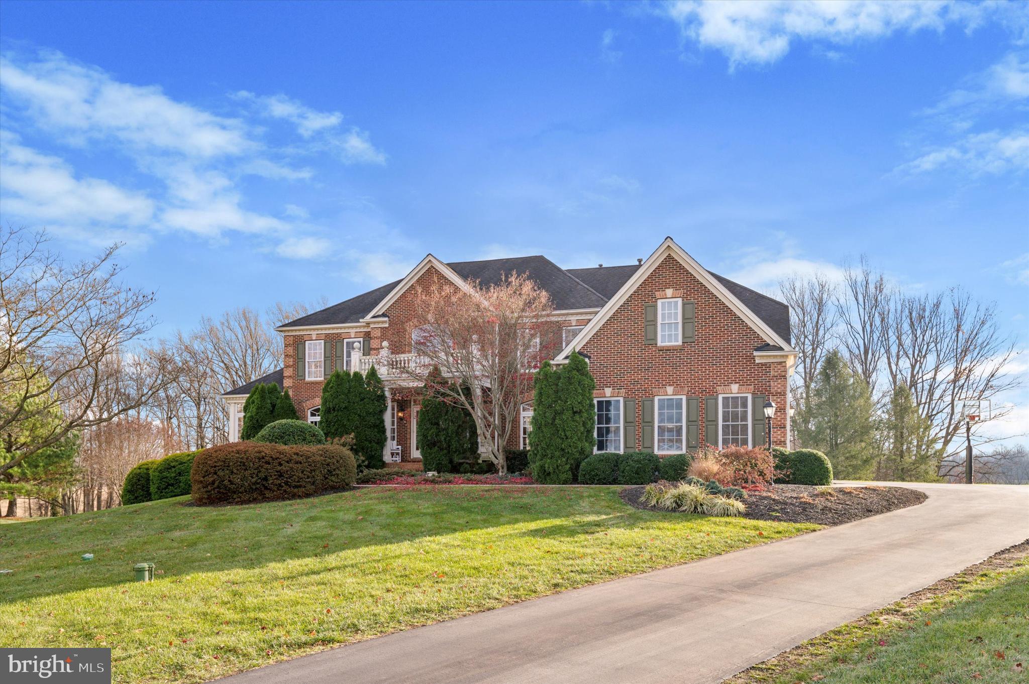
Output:
[[477,454],[478,433],[471,413],[435,389],[442,383],[438,369],[425,383],[418,413],[418,448],[426,471],[455,472],[458,461]]

